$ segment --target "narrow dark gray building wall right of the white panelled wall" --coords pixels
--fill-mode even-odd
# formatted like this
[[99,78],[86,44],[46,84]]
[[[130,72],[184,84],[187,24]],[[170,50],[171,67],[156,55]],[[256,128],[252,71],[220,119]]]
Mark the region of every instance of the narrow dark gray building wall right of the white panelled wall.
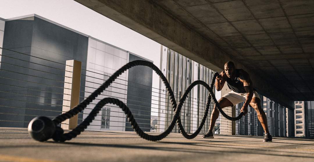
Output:
[[[130,53],[129,62],[135,60],[144,59]],[[145,66],[134,66],[128,71],[127,107],[131,110],[138,126],[143,131],[149,132],[153,70]],[[125,131],[134,131],[127,119],[125,126]]]

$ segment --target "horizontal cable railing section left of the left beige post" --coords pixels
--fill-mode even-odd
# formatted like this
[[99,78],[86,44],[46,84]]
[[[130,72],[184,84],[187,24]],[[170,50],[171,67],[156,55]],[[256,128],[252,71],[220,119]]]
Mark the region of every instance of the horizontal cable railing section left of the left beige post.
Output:
[[[0,60],[0,126],[27,127],[36,116],[62,113],[64,73],[60,62],[3,49]],[[67,101],[67,100],[66,100]]]

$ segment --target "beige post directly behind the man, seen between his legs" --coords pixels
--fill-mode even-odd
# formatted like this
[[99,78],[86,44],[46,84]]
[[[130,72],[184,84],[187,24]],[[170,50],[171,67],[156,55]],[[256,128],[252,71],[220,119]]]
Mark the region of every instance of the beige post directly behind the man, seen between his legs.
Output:
[[[230,92],[227,82],[221,90],[221,97]],[[224,112],[234,117],[236,115],[236,106],[223,108]],[[222,135],[233,135],[236,133],[236,122],[226,119],[224,116],[220,115],[220,134]]]

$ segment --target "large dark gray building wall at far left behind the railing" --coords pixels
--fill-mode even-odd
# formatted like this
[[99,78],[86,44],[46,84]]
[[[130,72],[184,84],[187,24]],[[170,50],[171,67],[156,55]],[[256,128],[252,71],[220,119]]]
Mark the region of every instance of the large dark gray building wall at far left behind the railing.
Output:
[[[0,89],[1,91],[5,92],[0,92],[0,112],[6,114],[0,114],[0,119],[21,122],[0,121],[0,127],[27,127],[28,122],[33,119],[35,115],[51,117],[59,115],[60,111],[62,111],[61,105],[63,99],[62,93],[65,71],[57,69],[65,69],[65,65],[62,64],[65,64],[66,60],[73,59],[82,61],[82,69],[86,69],[87,47],[88,37],[38,17],[28,17],[7,21],[5,23],[3,48],[21,52],[26,55],[3,50],[0,70],[0,83],[2,83],[2,85],[0,85]],[[5,56],[18,58],[24,61]],[[36,56],[39,58],[31,56]],[[42,60],[40,58],[50,61]],[[33,64],[30,62],[35,62],[37,64],[46,65],[57,69]],[[60,76],[31,69],[49,71]],[[14,72],[23,73],[26,75]],[[84,74],[84,71],[82,72]],[[7,77],[18,79],[20,81],[7,79]],[[55,81],[39,77],[45,77]],[[82,78],[82,80],[84,80],[84,78]],[[20,87],[8,85],[19,85]],[[81,82],[81,86],[84,87],[84,82]],[[80,96],[84,96],[84,94]]]

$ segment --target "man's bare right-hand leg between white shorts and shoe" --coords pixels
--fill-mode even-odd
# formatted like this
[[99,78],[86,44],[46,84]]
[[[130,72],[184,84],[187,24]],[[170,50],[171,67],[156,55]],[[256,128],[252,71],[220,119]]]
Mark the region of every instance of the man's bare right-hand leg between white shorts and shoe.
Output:
[[261,124],[264,128],[265,134],[269,133],[268,125],[267,125],[267,118],[266,118],[264,110],[262,109],[261,100],[257,97],[254,97],[254,98],[252,98],[250,105],[256,111],[258,120],[261,122]]

